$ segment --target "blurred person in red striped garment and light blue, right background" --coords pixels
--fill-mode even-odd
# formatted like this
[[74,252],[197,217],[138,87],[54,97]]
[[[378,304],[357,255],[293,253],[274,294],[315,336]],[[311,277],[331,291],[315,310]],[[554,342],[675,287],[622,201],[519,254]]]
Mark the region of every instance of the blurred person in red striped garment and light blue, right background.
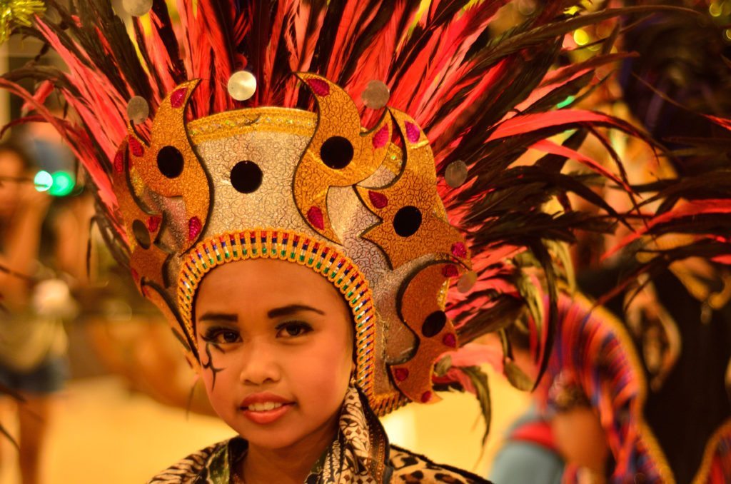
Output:
[[[535,379],[528,333],[510,331],[513,358]],[[548,369],[534,405],[508,431],[494,482],[672,483],[667,459],[643,421],[646,384],[621,322],[576,295],[562,298]],[[683,482],[683,481],[681,481]]]

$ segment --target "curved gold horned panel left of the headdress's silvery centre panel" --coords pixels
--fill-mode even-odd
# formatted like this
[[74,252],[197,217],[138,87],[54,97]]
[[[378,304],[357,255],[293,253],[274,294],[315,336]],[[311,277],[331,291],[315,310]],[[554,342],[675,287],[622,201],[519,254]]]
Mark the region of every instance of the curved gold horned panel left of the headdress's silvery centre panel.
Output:
[[188,240],[178,248],[181,251],[200,238],[211,197],[208,176],[189,142],[184,119],[198,83],[183,83],[162,101],[152,124],[150,146],[133,132],[129,136],[132,164],[144,184],[164,197],[182,197],[185,202]]

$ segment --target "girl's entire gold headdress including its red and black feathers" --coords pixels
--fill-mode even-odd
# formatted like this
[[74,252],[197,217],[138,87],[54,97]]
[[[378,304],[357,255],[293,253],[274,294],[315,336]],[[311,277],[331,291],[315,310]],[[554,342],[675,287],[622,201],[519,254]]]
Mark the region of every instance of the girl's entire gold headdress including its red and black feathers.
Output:
[[[175,26],[155,0],[149,25],[133,18],[132,42],[107,0],[72,1],[71,12],[50,1],[53,15],[23,31],[44,39],[68,72],[30,66],[0,87],[75,149],[111,245],[192,364],[191,310],[205,273],[232,260],[289,260],[346,298],[357,381],[384,414],[437,401],[435,381],[474,390],[482,380],[465,375],[475,371],[441,365],[436,375],[434,364],[539,306],[520,262],[530,258],[516,256],[534,255],[555,300],[553,241],[607,227],[568,205],[545,213],[543,203],[576,191],[614,214],[582,178],[561,173],[567,157],[592,165],[574,151],[586,126],[631,129],[553,110],[591,80],[580,65],[548,75],[577,19],[562,16],[565,2],[539,7],[504,48],[488,42],[504,3],[178,1]],[[35,94],[15,83],[26,76],[42,80]],[[258,84],[246,96],[242,77]],[[42,107],[51,88],[79,124]],[[548,140],[569,128],[577,131],[564,145]],[[512,166],[531,147],[548,154]],[[462,293],[448,294],[458,279]],[[546,325],[535,320],[543,343]]]

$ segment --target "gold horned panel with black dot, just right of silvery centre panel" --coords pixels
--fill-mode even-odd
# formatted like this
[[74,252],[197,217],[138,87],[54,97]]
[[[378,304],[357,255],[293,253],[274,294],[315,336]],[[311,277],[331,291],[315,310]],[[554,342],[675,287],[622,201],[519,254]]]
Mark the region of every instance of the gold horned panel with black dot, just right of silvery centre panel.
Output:
[[340,243],[327,211],[331,186],[352,186],[382,165],[391,140],[392,124],[384,116],[370,132],[363,132],[355,103],[324,77],[299,73],[317,99],[318,123],[302,157],[292,188],[300,213],[314,230]]

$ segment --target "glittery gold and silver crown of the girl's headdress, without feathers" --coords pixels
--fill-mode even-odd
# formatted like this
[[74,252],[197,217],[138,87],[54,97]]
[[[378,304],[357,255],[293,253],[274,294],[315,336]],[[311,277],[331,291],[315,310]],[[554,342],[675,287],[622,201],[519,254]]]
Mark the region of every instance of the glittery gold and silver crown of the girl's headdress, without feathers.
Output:
[[317,114],[259,107],[186,124],[192,81],[162,101],[149,144],[129,135],[113,190],[132,273],[178,314],[174,330],[194,356],[192,304],[205,273],[254,258],[306,265],[352,308],[357,382],[372,407],[436,399],[433,363],[457,347],[444,295],[470,262],[436,192],[428,140],[397,110],[366,131],[341,88],[298,77]]

